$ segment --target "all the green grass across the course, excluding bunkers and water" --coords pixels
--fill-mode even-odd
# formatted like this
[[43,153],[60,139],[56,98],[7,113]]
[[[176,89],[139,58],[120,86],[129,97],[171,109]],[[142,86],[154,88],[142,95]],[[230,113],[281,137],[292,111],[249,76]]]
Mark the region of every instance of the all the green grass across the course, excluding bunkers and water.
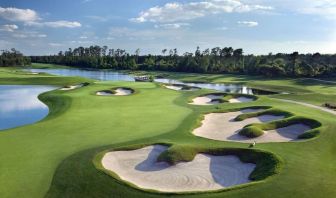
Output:
[[[41,66],[41,65],[40,65]],[[41,66],[42,67],[42,66]],[[94,165],[99,152],[132,145],[166,143],[199,150],[248,148],[248,144],[200,138],[191,131],[203,114],[251,106],[274,107],[286,116],[301,116],[322,124],[320,134],[302,142],[263,143],[256,149],[281,160],[278,174],[255,184],[183,197],[335,197],[335,115],[272,97],[321,105],[336,101],[332,83],[314,80],[262,79],[234,75],[168,73],[188,81],[246,83],[293,94],[259,96],[248,103],[189,105],[193,97],[211,93],[174,91],[157,83],[96,82],[79,77],[31,75],[0,68],[0,84],[91,84],[70,91],[40,95],[50,114],[44,120],[0,132],[0,197],[163,197],[129,187]],[[128,96],[96,96],[100,90],[129,87]],[[182,149],[183,150],[183,149]]]

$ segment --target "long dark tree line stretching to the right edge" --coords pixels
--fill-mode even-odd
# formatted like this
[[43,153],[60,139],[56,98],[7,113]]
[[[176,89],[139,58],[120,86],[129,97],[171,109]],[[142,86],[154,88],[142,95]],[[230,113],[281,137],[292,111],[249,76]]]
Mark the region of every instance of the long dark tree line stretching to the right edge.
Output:
[[62,64],[80,68],[117,70],[161,70],[196,73],[233,73],[265,76],[319,77],[336,75],[336,54],[244,55],[243,49],[215,47],[178,54],[163,49],[161,54],[140,55],[107,46],[69,48],[50,56],[31,56],[32,62]]

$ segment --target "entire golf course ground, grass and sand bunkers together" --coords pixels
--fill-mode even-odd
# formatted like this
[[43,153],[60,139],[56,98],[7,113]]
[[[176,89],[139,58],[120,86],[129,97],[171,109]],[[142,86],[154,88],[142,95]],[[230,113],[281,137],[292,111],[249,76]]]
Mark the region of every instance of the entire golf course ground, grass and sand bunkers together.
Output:
[[274,92],[248,95],[53,69],[71,70],[0,68],[0,87],[54,87],[44,118],[0,132],[0,197],[336,196],[332,79],[123,73]]

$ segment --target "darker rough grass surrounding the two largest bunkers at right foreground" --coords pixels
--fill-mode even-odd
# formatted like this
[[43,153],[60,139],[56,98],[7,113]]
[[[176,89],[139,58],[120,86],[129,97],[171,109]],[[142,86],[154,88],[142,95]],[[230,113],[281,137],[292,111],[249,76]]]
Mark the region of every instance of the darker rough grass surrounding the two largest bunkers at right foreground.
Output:
[[[243,188],[233,189],[230,191],[223,191],[218,193],[207,193],[197,195],[187,195],[186,197],[269,197],[270,194],[274,197],[332,197],[335,195],[333,185],[336,183],[334,180],[333,166],[326,163],[325,160],[333,159],[333,154],[330,152],[325,153],[324,149],[334,148],[335,141],[329,139],[334,136],[332,130],[335,126],[332,124],[333,117],[317,110],[310,110],[307,113],[307,108],[287,104],[278,103],[272,100],[263,98],[260,104],[270,104],[277,106],[277,108],[291,108],[295,109],[296,115],[306,115],[309,117],[319,117],[324,126],[322,127],[321,134],[317,139],[299,143],[265,143],[258,144],[257,149],[270,151],[283,159],[283,169],[270,179],[255,185],[244,186]],[[182,105],[180,98],[176,102]],[[255,104],[259,104],[255,102]],[[259,105],[260,105],[259,104]],[[230,105],[231,106],[231,105]],[[236,105],[235,107],[245,107],[246,105]],[[232,106],[231,106],[232,108]],[[202,149],[222,149],[222,148],[247,148],[248,144],[234,143],[234,142],[220,142],[205,140],[203,138],[195,137],[191,134],[192,128],[197,125],[198,117],[205,112],[216,111],[211,107],[193,108],[194,113],[190,114],[183,121],[183,125],[170,133],[162,134],[156,137],[131,141],[124,144],[113,144],[96,149],[90,149],[77,153],[59,166],[55,174],[52,186],[48,192],[47,197],[161,197],[162,194],[151,194],[144,191],[135,190],[128,187],[123,182],[118,181],[106,175],[105,173],[97,170],[92,160],[95,155],[103,150],[118,148],[125,145],[136,144],[154,144],[160,142],[172,143],[176,145],[173,147],[173,152],[178,152],[178,155],[172,155],[172,160],[192,158],[193,153],[189,148]],[[229,109],[229,105],[220,105],[221,111]],[[196,113],[197,112],[197,113]],[[322,118],[321,116],[325,117]],[[317,116],[317,117],[316,117]],[[328,138],[329,137],[329,138]],[[186,149],[187,148],[187,149]],[[175,150],[175,151],[174,151]],[[187,151],[187,152],[186,152]],[[191,150],[193,151],[193,150]],[[169,156],[169,155],[168,155]],[[304,159],[303,159],[304,156]],[[333,161],[333,160],[332,160]],[[270,163],[271,161],[266,161]],[[266,163],[265,162],[265,163]],[[262,166],[265,167],[265,166]],[[276,170],[279,170],[276,168]],[[322,182],[322,184],[320,184]],[[320,191],[314,190],[318,186]],[[281,189],[286,189],[281,190]],[[323,192],[323,193],[321,193]]]

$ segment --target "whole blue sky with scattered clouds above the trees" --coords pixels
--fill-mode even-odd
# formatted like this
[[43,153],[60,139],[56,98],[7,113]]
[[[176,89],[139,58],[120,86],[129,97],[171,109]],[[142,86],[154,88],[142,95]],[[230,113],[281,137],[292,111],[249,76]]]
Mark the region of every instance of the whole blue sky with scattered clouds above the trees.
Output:
[[336,53],[335,0],[0,0],[0,49]]

